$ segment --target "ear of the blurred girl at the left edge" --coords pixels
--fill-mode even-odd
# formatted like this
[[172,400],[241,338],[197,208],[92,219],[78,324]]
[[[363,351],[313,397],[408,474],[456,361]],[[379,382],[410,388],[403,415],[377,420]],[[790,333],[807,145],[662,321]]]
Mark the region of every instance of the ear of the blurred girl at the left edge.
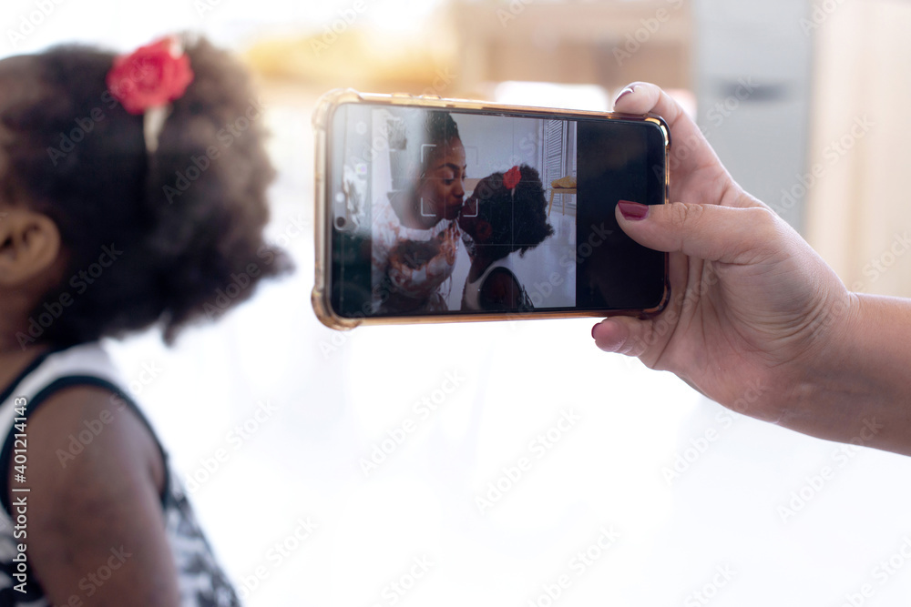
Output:
[[51,218],[25,208],[0,211],[0,285],[40,276],[59,254],[60,230]]

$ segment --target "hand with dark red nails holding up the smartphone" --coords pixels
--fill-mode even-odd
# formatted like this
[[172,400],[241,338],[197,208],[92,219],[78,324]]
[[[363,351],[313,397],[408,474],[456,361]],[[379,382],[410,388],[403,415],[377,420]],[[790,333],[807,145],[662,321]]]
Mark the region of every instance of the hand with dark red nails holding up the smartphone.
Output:
[[858,430],[806,421],[815,412],[802,409],[802,398],[837,368],[857,298],[792,228],[733,181],[699,128],[660,88],[636,83],[615,110],[652,112],[670,125],[672,203],[621,203],[617,218],[640,244],[670,252],[671,292],[667,309],[653,319],[615,317],[596,325],[599,348],[670,370],[752,417],[850,440]]

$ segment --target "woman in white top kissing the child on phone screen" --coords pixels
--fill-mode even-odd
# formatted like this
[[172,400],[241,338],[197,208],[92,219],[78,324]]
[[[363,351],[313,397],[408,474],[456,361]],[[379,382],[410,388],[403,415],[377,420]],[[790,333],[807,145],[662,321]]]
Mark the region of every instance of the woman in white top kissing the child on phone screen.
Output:
[[[381,313],[445,311],[442,285],[461,238],[455,218],[465,197],[466,153],[458,127],[441,111],[410,118],[393,118],[405,126],[404,133],[389,131],[393,189],[374,199],[372,301]],[[407,178],[393,175],[393,166]],[[404,186],[394,189],[396,182]]]

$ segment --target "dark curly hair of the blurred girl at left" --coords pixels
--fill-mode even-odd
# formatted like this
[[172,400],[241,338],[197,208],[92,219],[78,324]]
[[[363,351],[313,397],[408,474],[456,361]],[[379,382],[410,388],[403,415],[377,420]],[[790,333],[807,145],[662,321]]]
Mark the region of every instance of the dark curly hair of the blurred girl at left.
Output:
[[261,102],[227,53],[202,39],[187,41],[186,53],[195,77],[154,154],[143,117],[107,91],[115,56],[95,48],[35,56],[43,99],[4,112],[11,140],[0,195],[51,218],[67,254],[63,280],[32,319],[61,297],[72,303],[41,323],[42,341],[77,344],[159,323],[170,343],[291,269],[262,238],[274,170]]

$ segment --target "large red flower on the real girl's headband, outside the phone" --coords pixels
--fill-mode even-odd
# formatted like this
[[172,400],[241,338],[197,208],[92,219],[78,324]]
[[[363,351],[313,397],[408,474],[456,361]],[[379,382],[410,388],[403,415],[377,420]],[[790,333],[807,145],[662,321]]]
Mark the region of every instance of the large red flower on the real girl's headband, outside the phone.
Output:
[[189,57],[174,37],[119,56],[107,73],[107,89],[133,115],[179,99],[192,81]]

